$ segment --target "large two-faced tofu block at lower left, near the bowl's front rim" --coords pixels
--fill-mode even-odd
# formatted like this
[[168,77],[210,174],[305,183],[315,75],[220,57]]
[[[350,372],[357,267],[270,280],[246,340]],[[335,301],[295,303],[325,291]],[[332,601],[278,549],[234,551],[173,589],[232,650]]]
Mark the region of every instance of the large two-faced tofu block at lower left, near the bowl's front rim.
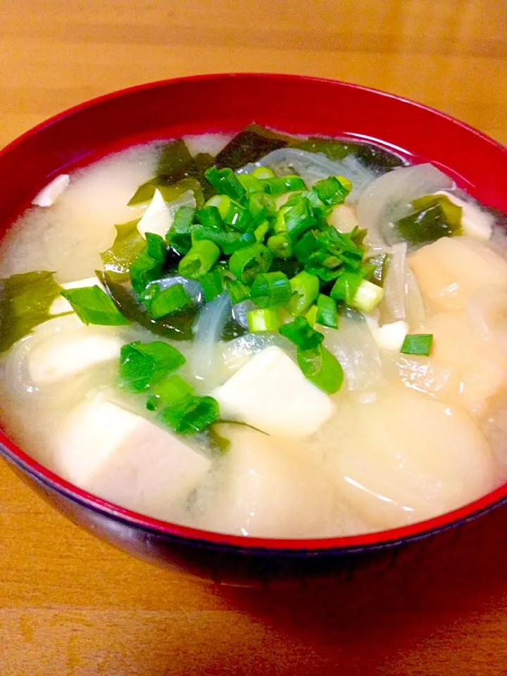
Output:
[[70,413],[55,460],[82,489],[162,519],[211,468],[209,458],[170,432],[100,396]]

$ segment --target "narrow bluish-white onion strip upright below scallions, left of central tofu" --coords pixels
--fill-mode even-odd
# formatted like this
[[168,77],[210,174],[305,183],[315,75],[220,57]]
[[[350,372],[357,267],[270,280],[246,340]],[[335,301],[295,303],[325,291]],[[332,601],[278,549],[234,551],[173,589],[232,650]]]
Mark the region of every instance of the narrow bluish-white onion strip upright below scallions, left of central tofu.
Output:
[[213,371],[217,370],[218,342],[231,315],[229,294],[223,293],[201,310],[195,326],[192,371],[202,381],[204,390],[215,386]]

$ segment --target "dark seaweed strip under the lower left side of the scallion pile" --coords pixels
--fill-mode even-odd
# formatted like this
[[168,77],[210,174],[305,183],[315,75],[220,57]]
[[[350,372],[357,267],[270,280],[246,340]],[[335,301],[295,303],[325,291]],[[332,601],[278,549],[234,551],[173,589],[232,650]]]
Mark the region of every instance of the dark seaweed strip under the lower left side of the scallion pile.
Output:
[[192,340],[192,325],[199,310],[196,305],[187,306],[161,319],[151,319],[126,287],[113,282],[110,275],[101,270],[97,270],[96,275],[125,318],[158,336],[173,340]]

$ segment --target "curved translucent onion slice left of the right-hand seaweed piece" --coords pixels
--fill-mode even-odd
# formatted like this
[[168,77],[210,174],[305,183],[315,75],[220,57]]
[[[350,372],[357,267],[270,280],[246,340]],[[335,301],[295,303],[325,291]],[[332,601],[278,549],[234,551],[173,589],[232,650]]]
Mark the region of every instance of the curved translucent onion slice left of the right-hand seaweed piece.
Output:
[[432,164],[394,169],[377,178],[361,195],[358,220],[368,230],[367,243],[382,247],[396,242],[394,223],[411,211],[411,202],[454,182]]

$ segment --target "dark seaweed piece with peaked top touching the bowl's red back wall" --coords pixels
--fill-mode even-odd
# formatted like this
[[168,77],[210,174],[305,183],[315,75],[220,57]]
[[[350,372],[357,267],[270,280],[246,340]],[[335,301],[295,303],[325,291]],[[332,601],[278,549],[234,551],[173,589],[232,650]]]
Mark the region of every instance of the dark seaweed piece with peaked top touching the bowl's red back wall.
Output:
[[219,169],[239,169],[249,162],[256,162],[273,150],[284,148],[292,141],[283,134],[272,132],[260,125],[249,125],[225,146],[215,157]]

